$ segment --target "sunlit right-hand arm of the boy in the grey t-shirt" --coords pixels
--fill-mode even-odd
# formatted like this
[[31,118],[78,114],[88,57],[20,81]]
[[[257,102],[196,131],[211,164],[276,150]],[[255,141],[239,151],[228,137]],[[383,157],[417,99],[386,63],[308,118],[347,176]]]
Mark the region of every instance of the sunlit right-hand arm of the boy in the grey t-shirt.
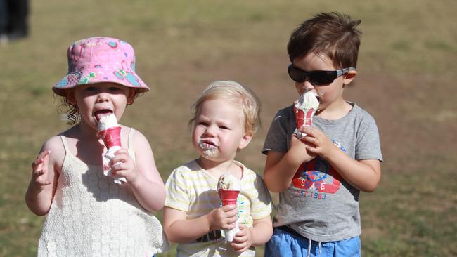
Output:
[[342,152],[328,139],[325,133],[312,127],[304,128],[309,143],[307,150],[318,154],[332,165],[347,183],[363,192],[373,192],[381,179],[381,166],[378,159],[356,160]]

